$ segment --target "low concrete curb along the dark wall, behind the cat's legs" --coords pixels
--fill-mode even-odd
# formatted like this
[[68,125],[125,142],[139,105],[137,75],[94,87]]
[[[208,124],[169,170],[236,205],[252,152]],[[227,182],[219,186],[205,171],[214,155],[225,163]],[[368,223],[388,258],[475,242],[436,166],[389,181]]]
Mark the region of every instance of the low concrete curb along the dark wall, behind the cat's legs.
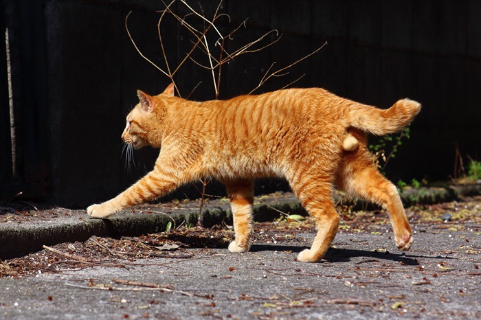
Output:
[[[405,189],[401,194],[406,207],[414,203],[423,205],[454,201],[460,196],[481,194],[481,184],[473,185],[438,185],[436,187],[421,187]],[[336,196],[335,196],[336,197]],[[339,197],[339,194],[337,194]],[[345,205],[365,207],[361,201],[346,200]],[[0,225],[0,259],[20,257],[42,249],[43,244],[52,245],[61,242],[85,241],[91,236],[139,236],[147,233],[165,231],[169,221],[175,221],[175,226],[181,223],[195,224],[197,211],[186,212],[182,209],[165,208],[167,214],[148,213],[131,210],[115,214],[108,219],[89,218],[85,210],[73,211],[67,218],[51,220],[31,220],[21,224]],[[254,219],[256,221],[273,220],[280,215],[301,214],[306,212],[297,198],[292,194],[269,195],[256,198],[254,203]],[[203,208],[202,223],[205,227],[221,224],[232,224],[229,204],[225,201],[210,201]]]

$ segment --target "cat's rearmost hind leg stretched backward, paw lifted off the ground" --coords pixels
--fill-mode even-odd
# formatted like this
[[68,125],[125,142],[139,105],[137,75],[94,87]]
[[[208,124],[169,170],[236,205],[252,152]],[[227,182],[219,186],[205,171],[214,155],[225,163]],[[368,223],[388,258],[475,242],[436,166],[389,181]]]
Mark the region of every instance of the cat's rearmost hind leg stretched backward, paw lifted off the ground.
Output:
[[375,168],[372,155],[366,147],[346,152],[337,176],[337,186],[348,194],[377,203],[386,209],[394,230],[396,246],[403,251],[410,249],[412,231],[397,188]]

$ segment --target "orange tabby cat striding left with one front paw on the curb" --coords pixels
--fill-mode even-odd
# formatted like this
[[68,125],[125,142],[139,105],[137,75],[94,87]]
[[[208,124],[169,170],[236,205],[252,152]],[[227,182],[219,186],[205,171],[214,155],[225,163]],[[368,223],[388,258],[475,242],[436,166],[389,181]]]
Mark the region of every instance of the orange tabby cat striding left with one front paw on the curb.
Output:
[[210,176],[230,196],[235,240],[229,251],[245,252],[254,179],[284,176],[316,221],[315,240],[299,261],[320,261],[333,242],[339,225],[333,185],[387,209],[396,246],[410,248],[412,232],[399,194],[377,171],[366,139],[367,133],[401,130],[421,110],[418,102],[399,100],[382,110],[317,88],[207,102],[176,98],[172,84],[157,96],[137,94],[140,102],[126,118],[122,139],[133,148],[161,148],[155,168],[115,198],[88,207],[90,216],[105,218]]

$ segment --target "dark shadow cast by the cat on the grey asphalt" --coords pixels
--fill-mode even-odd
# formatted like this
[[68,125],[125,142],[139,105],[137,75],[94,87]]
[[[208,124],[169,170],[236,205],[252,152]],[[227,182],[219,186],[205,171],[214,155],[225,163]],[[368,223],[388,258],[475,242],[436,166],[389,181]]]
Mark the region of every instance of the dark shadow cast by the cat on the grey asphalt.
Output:
[[[287,251],[298,253],[302,250],[306,249],[306,247],[296,247],[296,246],[285,246],[285,245],[276,245],[276,244],[252,244],[250,251],[251,252],[260,252],[260,251]],[[324,260],[328,262],[350,262],[353,258],[370,258],[372,260],[389,260],[389,261],[396,261],[396,262],[403,262],[405,265],[409,266],[418,266],[419,262],[415,256],[405,255],[403,253],[390,253],[390,252],[377,252],[377,251],[368,251],[368,250],[359,250],[359,249],[329,249],[324,256]],[[423,257],[429,258],[429,257]],[[438,258],[438,257],[433,257]]]

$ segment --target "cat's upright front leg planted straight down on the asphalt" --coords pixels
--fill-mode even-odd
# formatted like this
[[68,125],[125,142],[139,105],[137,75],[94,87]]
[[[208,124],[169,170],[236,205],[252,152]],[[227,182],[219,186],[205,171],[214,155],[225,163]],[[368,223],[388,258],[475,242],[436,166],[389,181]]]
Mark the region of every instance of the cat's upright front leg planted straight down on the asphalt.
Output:
[[227,188],[234,220],[236,238],[229,244],[230,252],[246,252],[251,246],[254,180],[223,181]]

